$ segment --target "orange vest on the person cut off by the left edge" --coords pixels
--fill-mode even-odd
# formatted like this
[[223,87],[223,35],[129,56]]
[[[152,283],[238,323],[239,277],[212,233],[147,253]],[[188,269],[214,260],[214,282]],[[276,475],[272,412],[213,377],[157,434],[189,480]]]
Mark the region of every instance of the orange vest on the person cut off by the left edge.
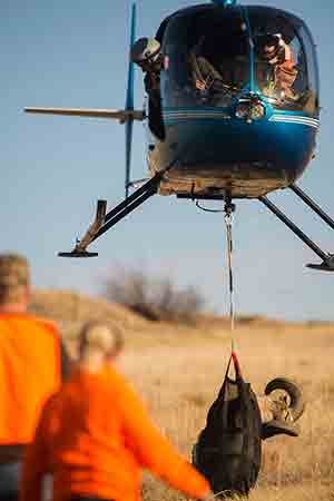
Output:
[[0,445],[32,441],[42,404],[59,389],[60,358],[51,322],[0,313]]

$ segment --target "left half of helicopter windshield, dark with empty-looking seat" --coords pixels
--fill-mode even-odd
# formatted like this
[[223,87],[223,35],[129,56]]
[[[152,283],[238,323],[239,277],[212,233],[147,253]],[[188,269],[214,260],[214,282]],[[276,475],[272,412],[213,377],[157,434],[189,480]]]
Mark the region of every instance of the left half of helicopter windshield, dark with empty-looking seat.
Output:
[[248,39],[239,9],[195,9],[171,18],[164,35],[164,106],[227,107],[249,80]]

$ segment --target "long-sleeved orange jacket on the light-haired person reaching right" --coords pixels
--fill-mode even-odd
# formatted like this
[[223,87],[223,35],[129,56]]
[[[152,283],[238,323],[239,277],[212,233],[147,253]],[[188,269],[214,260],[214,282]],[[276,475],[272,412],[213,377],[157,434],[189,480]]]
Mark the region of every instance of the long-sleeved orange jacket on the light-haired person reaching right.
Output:
[[190,498],[207,481],[151,424],[125,379],[107,366],[77,371],[45,406],[23,464],[20,501],[40,501],[41,481],[53,473],[53,501],[73,494],[139,501],[141,469]]

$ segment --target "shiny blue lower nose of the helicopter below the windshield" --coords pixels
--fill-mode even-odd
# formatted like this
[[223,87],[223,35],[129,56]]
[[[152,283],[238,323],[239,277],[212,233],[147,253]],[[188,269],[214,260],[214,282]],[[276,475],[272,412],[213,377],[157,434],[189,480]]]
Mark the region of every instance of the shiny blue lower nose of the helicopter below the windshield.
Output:
[[249,106],[243,102],[236,112],[240,116],[223,119],[214,112],[206,119],[179,114],[166,127],[164,164],[175,165],[175,174],[188,179],[276,179],[277,187],[302,174],[311,159],[315,129],[273,121],[263,116],[261,102],[252,111],[258,119],[249,118]]

